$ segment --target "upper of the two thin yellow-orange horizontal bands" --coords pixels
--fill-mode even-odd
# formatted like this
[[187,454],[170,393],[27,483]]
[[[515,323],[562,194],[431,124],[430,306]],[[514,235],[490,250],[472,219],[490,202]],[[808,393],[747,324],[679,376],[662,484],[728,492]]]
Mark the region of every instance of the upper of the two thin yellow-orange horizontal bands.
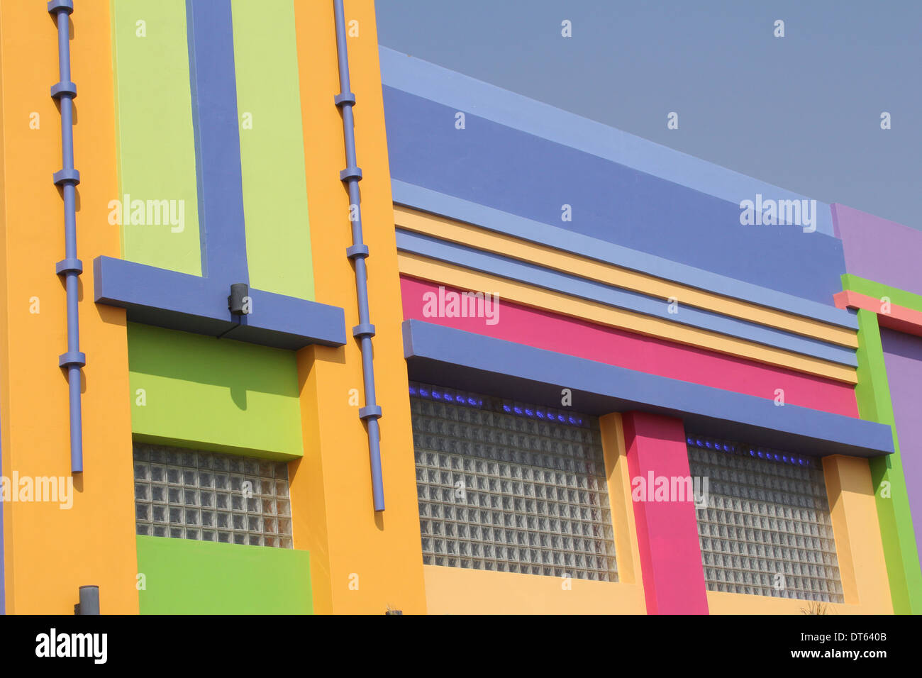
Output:
[[511,256],[588,280],[597,280],[625,290],[639,291],[663,300],[676,299],[680,304],[696,306],[812,339],[822,339],[850,349],[857,349],[858,346],[857,332],[847,327],[835,327],[820,320],[789,314],[754,303],[741,302],[738,299],[698,290],[628,268],[604,264],[585,256],[563,252],[547,245],[529,243],[510,235],[486,231],[478,226],[427,214],[416,209],[395,205],[394,216],[396,225],[408,231],[425,233],[452,243]]

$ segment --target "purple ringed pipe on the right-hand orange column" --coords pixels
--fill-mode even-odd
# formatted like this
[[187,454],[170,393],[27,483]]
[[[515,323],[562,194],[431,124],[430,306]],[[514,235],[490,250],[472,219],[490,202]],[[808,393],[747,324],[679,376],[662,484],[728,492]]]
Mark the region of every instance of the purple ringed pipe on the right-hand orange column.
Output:
[[374,326],[368,312],[368,272],[365,268],[368,246],[362,242],[361,236],[361,195],[359,193],[361,170],[355,157],[355,120],[352,117],[355,94],[349,86],[349,53],[346,47],[346,18],[342,0],[333,0],[333,13],[337,26],[340,92],[334,101],[342,112],[343,137],[346,139],[346,169],[339,172],[339,179],[349,186],[349,220],[352,222],[352,246],[346,249],[346,256],[349,256],[355,266],[355,286],[359,295],[359,324],[352,327],[352,336],[360,342],[361,371],[365,384],[365,407],[359,410],[359,417],[368,426],[368,456],[372,463],[374,510],[384,511],[381,431],[378,428],[381,407],[376,403],[374,395],[374,364],[372,363]]

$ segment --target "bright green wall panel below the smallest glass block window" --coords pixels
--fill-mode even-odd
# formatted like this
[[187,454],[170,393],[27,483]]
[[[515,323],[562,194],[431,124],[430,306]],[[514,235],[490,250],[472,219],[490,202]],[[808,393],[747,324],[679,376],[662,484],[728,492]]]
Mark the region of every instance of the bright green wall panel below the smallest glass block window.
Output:
[[137,537],[137,571],[141,614],[313,613],[306,551]]

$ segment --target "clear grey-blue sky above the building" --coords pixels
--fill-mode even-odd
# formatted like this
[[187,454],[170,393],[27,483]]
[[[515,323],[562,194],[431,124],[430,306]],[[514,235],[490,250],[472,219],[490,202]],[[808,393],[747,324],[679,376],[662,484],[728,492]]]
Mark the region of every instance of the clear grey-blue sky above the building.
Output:
[[[376,0],[375,9],[387,47],[922,230],[919,0]],[[563,19],[572,38],[561,37]],[[784,38],[773,35],[776,19]],[[667,129],[673,111],[678,130]]]

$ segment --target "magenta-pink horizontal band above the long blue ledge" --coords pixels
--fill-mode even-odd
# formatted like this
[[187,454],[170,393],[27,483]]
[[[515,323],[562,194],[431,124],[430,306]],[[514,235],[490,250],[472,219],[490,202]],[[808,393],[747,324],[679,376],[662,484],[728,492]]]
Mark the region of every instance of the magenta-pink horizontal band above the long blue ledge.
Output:
[[[408,276],[400,277],[404,318],[476,332],[494,339],[514,341],[547,351],[567,353],[586,360],[618,365],[651,375],[723,388],[759,398],[775,398],[784,389],[785,402],[813,410],[857,417],[855,389],[820,376],[684,346],[665,339],[644,337],[613,327],[542,311],[500,300],[498,322],[483,317],[429,317],[424,315],[426,292],[439,285]],[[445,286],[445,291],[459,291]]]

